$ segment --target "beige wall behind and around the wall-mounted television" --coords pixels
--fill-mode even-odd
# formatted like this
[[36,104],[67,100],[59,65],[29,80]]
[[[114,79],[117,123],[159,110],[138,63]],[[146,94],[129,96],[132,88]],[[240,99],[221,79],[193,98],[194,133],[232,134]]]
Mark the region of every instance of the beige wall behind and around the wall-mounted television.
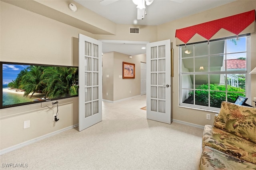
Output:
[[[1,61],[78,66],[78,34],[93,34],[61,22],[1,3]],[[42,106],[52,106],[51,102]],[[70,127],[78,123],[78,97],[59,100],[59,121],[54,109],[40,104],[0,110],[0,149]],[[23,122],[30,120],[30,128]]]

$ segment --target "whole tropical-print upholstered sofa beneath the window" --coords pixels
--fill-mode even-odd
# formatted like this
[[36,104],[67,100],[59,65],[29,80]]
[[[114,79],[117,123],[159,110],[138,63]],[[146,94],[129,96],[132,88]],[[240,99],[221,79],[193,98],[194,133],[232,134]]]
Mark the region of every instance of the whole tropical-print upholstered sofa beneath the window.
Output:
[[256,170],[256,108],[222,102],[204,127],[200,169]]

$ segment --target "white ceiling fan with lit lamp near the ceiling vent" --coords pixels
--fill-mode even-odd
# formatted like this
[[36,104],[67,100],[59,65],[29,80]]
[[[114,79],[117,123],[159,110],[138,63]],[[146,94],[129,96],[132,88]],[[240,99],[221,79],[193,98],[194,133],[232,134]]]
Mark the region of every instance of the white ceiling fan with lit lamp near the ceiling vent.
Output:
[[[112,4],[118,0],[101,0],[100,4],[106,6],[108,4]],[[132,0],[132,2],[137,5],[137,20],[143,20],[146,12],[146,6],[152,4],[154,0]]]

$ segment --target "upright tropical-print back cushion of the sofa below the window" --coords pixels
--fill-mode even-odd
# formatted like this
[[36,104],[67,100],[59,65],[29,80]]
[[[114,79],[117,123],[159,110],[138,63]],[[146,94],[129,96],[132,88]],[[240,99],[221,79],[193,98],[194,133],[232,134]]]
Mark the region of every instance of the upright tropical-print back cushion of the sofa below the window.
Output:
[[256,108],[223,101],[214,126],[256,143]]

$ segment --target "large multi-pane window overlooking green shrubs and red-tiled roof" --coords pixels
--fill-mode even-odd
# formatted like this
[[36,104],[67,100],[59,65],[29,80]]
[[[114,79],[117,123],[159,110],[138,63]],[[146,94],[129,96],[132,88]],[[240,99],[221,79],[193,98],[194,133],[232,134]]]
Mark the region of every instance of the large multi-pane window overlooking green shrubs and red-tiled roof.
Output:
[[180,106],[218,111],[249,91],[250,36],[180,46]]

